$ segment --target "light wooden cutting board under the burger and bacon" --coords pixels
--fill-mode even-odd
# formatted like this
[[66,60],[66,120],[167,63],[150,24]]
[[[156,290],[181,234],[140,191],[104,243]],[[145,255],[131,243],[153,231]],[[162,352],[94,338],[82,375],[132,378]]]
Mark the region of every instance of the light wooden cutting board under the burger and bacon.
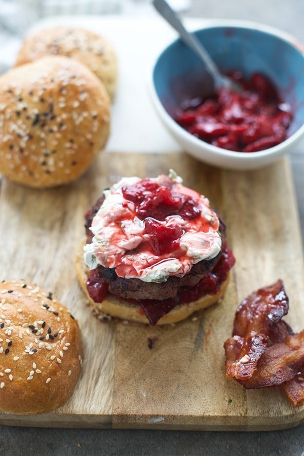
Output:
[[[84,213],[123,175],[155,176],[174,167],[206,195],[227,224],[237,263],[221,303],[173,327],[103,323],[86,306],[74,268]],[[3,181],[0,278],[53,291],[79,319],[85,361],[71,399],[38,416],[0,414],[19,426],[269,430],[304,421],[281,388],[246,391],[224,375],[224,340],[238,303],[284,280],[286,320],[304,326],[304,271],[298,215],[287,159],[253,172],[222,171],[183,154],[105,153],[69,186],[35,191]],[[153,349],[147,338],[157,337]]]

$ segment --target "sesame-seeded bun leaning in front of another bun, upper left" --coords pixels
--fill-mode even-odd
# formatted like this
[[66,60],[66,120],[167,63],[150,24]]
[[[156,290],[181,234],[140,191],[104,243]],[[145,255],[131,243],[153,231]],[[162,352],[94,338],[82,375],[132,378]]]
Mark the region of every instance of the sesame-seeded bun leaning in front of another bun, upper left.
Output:
[[110,101],[85,65],[44,57],[0,77],[0,172],[31,187],[76,179],[109,134]]

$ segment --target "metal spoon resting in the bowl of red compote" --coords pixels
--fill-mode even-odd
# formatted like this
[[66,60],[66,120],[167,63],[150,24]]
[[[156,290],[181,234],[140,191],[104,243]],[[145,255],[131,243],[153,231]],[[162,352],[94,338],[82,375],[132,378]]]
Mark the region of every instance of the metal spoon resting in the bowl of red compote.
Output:
[[179,33],[182,41],[189,48],[191,48],[206,65],[207,71],[213,78],[215,90],[218,90],[221,87],[227,87],[236,92],[242,92],[242,88],[238,83],[220,73],[217,65],[214,63],[201,42],[197,39],[196,35],[189,33],[184,28],[177,14],[171,9],[165,0],[153,0],[153,5],[160,15]]

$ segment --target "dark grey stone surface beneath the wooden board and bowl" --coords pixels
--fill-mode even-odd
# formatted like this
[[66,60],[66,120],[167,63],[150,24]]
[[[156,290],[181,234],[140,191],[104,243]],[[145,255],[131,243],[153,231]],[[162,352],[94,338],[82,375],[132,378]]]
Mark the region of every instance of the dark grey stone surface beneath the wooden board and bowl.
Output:
[[[280,27],[304,42],[304,1],[193,0],[189,16],[235,18]],[[304,220],[304,160],[292,156],[300,215]],[[75,430],[0,427],[0,455],[262,455],[301,456],[304,425],[274,432]]]

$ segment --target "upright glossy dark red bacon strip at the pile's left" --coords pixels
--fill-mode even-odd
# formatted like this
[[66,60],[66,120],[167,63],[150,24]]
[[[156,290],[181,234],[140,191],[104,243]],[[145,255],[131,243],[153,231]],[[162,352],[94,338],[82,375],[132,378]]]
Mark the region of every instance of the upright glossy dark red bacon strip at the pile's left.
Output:
[[[288,297],[282,280],[260,288],[244,299],[234,320],[234,337],[226,340],[226,377],[247,380],[256,371],[266,350],[272,328],[288,312]],[[285,330],[282,326],[281,331]],[[273,334],[277,337],[277,334]]]

